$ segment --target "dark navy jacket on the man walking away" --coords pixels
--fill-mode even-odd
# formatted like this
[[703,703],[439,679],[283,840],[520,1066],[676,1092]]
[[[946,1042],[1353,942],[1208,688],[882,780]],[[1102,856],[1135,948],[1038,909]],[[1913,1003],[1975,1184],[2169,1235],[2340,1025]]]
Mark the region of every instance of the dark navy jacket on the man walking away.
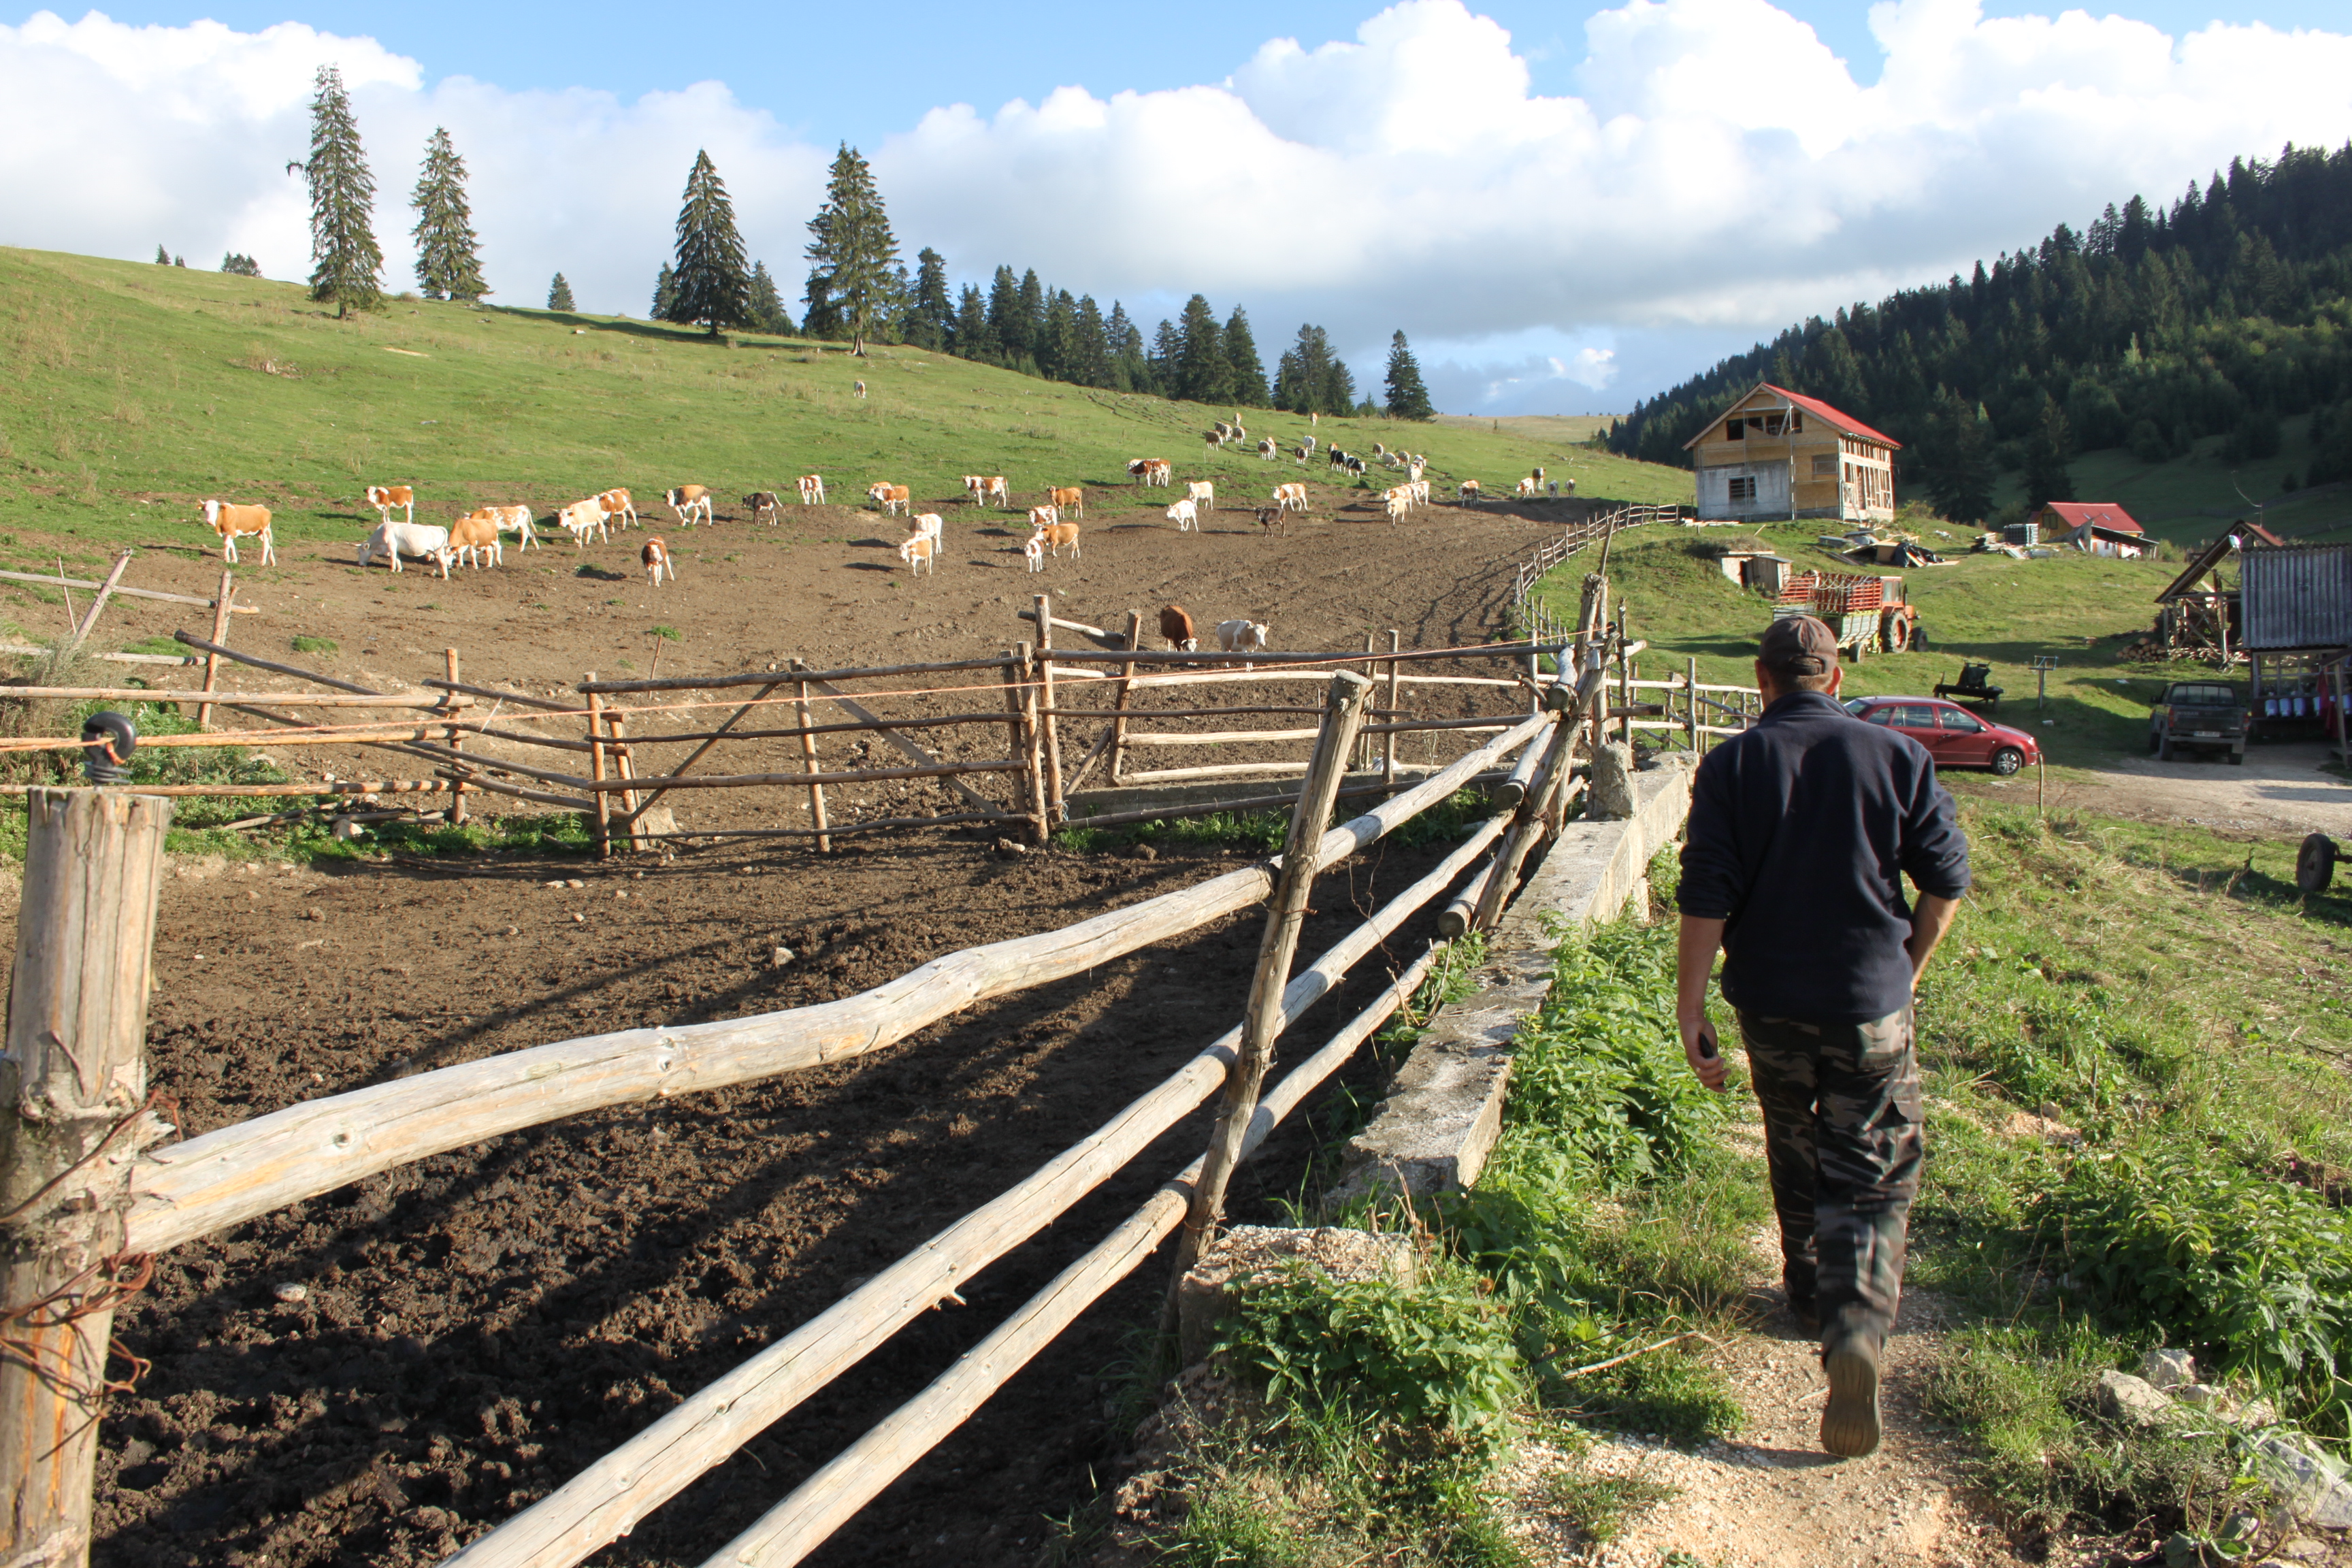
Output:
[[1910,1001],[1910,900],[1969,889],[1969,842],[1926,748],[1792,691],[1691,783],[1684,914],[1724,924],[1743,1013],[1865,1023]]

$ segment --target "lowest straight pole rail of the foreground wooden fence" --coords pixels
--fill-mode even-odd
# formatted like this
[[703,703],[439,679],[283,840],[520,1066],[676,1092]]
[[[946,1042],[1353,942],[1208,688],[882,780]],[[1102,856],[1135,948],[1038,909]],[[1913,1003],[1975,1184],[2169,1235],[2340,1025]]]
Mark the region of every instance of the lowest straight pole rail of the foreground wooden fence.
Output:
[[[1298,1063],[1258,1100],[1249,1131],[1242,1135],[1242,1159],[1256,1154],[1265,1138],[1411,999],[1435,959],[1437,947],[1432,945],[1371,1006],[1350,1018],[1322,1051]],[[788,1568],[814,1552],[906,1474],[915,1460],[969,1420],[990,1394],[1011,1382],[1014,1373],[1075,1324],[1087,1307],[1150,1258],[1183,1225],[1202,1164],[1195,1159],[1185,1166],[1124,1225],[1023,1302],[995,1333],[957,1356],[955,1366],[931,1387],[898,1406],[882,1425],[793,1488],[783,1502],[706,1559],[703,1568],[746,1568],[750,1563]]]

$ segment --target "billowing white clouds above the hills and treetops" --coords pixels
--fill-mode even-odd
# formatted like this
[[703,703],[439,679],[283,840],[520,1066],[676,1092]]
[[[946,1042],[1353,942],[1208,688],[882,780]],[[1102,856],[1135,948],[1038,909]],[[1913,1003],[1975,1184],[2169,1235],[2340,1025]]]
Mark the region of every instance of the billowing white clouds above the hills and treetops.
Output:
[[[1352,42],[1265,42],[1225,82],[938,106],[875,167],[906,247],[936,244],[962,275],[1035,266],[1145,310],[1200,289],[1249,306],[1268,360],[1312,320],[1371,378],[1404,327],[1446,346],[1461,395],[1538,407],[1684,369],[1637,339],[1738,346],[2107,200],[2171,197],[2232,155],[2352,136],[2343,33],[2171,38],[2079,9],[1987,19],[1978,0],[1882,0],[1870,28],[1886,59],[1863,85],[1766,0],[1628,0],[1588,21],[1576,96],[1543,96],[1498,24],[1404,0]],[[623,103],[428,85],[419,61],[299,24],[0,28],[0,237],[235,247],[301,275],[285,162],[322,59],[353,82],[388,249],[405,252],[416,153],[449,125],[503,299],[562,268],[586,306],[642,313],[708,146],[746,240],[795,292],[826,148],[727,87]],[[407,282],[405,254],[390,273]]]

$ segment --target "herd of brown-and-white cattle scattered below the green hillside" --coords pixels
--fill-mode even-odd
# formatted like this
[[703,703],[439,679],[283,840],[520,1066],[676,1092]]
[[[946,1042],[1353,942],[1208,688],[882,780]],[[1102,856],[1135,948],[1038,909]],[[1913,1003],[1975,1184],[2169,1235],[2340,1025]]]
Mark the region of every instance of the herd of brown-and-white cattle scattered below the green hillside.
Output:
[[[1249,433],[1242,428],[1240,414],[1232,423],[1216,423],[1209,433],[1211,447],[1223,447],[1228,440],[1244,440]],[[1298,461],[1305,463],[1315,454],[1315,437],[1308,435],[1298,444]],[[1364,458],[1329,447],[1331,468],[1364,475]],[[1388,522],[1402,522],[1404,515],[1416,505],[1428,505],[1430,482],[1423,477],[1428,458],[1418,451],[1390,451],[1385,444],[1374,442],[1374,461],[1388,468],[1402,468],[1404,482],[1378,491],[1378,501],[1388,512]],[[1272,437],[1258,442],[1258,456],[1268,461],[1277,456]],[[1127,475],[1138,487],[1174,484],[1174,468],[1167,458],[1131,458],[1127,463]],[[1543,468],[1536,468],[1529,477],[1519,480],[1517,496],[1538,496],[1545,487]],[[1576,482],[1569,480],[1569,494],[1576,491]],[[1011,508],[1014,494],[1004,475],[964,475],[964,494],[974,505],[997,505]],[[1550,487],[1550,494],[1559,494],[1559,484]],[[1475,503],[1484,496],[1477,480],[1463,480],[1456,487],[1456,498],[1461,503]],[[924,569],[938,571],[938,555],[946,543],[946,520],[938,512],[915,515],[913,491],[906,484],[877,482],[868,487],[866,498],[882,508],[884,517],[906,517],[908,536],[898,545],[898,559],[922,576]],[[699,522],[715,522],[715,496],[706,484],[680,484],[663,494],[663,505],[677,517],[677,527],[691,529]],[[821,475],[800,475],[800,503],[818,505],[826,501],[826,482]],[[1291,512],[1305,515],[1308,510],[1308,487],[1305,484],[1277,484],[1270,496],[1272,505],[1256,508],[1258,527],[1272,531],[1287,527]],[[517,550],[529,550],[532,545],[546,548],[534,527],[532,508],[527,505],[485,505],[480,510],[466,512],[449,527],[416,522],[416,491],[407,484],[369,484],[367,503],[376,508],[379,524],[360,545],[360,567],[372,564],[379,555],[390,564],[393,571],[402,569],[402,557],[423,559],[440,567],[447,578],[449,567],[501,567],[506,564],[503,538],[515,536]],[[776,524],[783,520],[783,501],[776,491],[753,491],[743,496],[743,505],[750,510],[755,522]],[[402,520],[393,522],[393,512]],[[1216,510],[1216,484],[1211,480],[1188,480],[1185,498],[1167,508],[1167,520],[1176,524],[1178,531],[1200,529],[1200,515]],[[205,524],[212,527],[221,538],[221,555],[228,562],[238,559],[238,541],[254,538],[261,543],[261,562],[275,564],[278,548],[270,536],[270,508],[266,505],[240,505],[230,501],[205,501],[202,503]],[[1044,571],[1047,559],[1058,557],[1063,550],[1070,559],[1080,555],[1080,524],[1087,517],[1087,491],[1080,487],[1054,487],[1047,489],[1044,505],[1028,508],[1030,536],[1021,545],[1030,571]],[[586,501],[574,501],[572,505],[557,508],[553,524],[572,536],[574,548],[588,548],[588,536],[597,541],[612,538],[612,527],[621,529],[635,527],[640,522],[637,505],[630,491],[607,489]],[[637,550],[637,559],[644,567],[644,576],[652,585],[661,585],[668,576],[677,581],[677,562],[670,557],[670,548],[663,538],[647,538]],[[1192,621],[1183,614],[1183,607],[1169,604],[1162,611],[1162,628],[1176,625],[1181,621],[1183,637],[1169,635],[1169,642],[1195,649]],[[1218,642],[1225,651],[1247,651],[1254,646],[1265,646],[1265,625],[1251,621],[1225,621],[1216,628]],[[1251,639],[1254,637],[1254,639]]]

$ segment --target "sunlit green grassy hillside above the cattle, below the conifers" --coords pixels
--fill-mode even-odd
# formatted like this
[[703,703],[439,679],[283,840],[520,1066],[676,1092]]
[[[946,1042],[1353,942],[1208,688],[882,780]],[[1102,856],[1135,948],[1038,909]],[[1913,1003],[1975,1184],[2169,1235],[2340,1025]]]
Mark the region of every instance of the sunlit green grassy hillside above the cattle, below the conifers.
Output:
[[[910,348],[729,348],[628,317],[430,301],[336,322],[299,284],[24,249],[0,249],[0,517],[92,543],[202,538],[202,496],[278,508],[285,538],[358,538],[372,482],[416,484],[423,522],[612,484],[642,508],[680,482],[717,489],[724,512],[748,489],[788,494],[802,473],[826,475],[835,501],[875,480],[957,498],[964,473],[1004,473],[1021,491],[1124,487],[1131,456],[1171,458],[1232,498],[1301,477],[1289,461],[1204,456],[1197,430],[1230,409]],[[1289,414],[1251,418],[1254,435],[1303,430]],[[1350,418],[1317,435],[1364,451],[1411,442],[1432,477],[1489,489],[1545,463],[1588,496],[1691,496],[1686,473],[1566,437]]]

